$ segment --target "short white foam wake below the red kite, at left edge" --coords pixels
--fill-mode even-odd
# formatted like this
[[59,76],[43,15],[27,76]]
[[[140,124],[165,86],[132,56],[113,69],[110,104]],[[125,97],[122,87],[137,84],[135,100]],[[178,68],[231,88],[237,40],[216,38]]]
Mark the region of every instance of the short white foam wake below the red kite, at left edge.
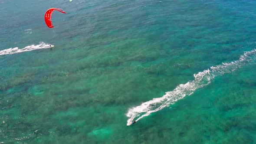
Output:
[[4,49],[0,51],[0,55],[10,55],[14,53],[20,53],[20,52],[28,52],[32,51],[35,49],[47,49],[50,48],[49,44],[40,42],[39,45],[31,45],[31,46],[26,46],[23,49],[19,49],[18,47],[16,48],[10,48],[10,49]]

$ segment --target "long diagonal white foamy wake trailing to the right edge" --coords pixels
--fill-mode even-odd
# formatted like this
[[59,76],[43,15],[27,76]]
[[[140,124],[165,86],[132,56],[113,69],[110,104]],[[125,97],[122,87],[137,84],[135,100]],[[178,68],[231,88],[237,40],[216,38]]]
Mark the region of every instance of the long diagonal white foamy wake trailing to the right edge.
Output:
[[253,49],[252,51],[244,52],[244,54],[240,56],[239,60],[212,66],[210,69],[194,74],[195,79],[193,81],[178,85],[173,91],[166,92],[161,98],[153,98],[152,100],[144,102],[135,108],[130,108],[126,114],[128,117],[127,125],[130,125],[131,121],[135,118],[137,118],[135,121],[138,121],[152,112],[159,111],[171,104],[174,104],[174,102],[184,98],[186,95],[193,94],[198,88],[202,88],[210,84],[216,76],[233,72],[255,59],[256,49]]

